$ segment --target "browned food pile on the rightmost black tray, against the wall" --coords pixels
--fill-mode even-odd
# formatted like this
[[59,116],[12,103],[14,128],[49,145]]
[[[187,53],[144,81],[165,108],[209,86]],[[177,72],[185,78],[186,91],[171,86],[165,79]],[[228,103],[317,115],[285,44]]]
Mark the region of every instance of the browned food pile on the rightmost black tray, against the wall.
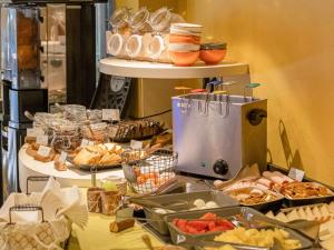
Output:
[[326,187],[316,182],[288,182],[282,186],[281,192],[288,199],[305,199],[333,196]]

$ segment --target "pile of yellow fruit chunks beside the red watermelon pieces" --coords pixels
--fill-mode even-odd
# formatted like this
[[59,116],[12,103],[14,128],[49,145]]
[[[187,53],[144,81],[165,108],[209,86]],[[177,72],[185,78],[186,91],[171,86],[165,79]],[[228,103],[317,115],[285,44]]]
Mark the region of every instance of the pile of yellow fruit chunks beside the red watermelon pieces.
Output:
[[223,232],[215,237],[215,241],[224,241],[230,243],[240,243],[255,247],[273,248],[275,240],[279,241],[283,250],[302,248],[302,243],[297,239],[291,238],[289,233],[284,229],[245,229],[243,227],[235,228]]

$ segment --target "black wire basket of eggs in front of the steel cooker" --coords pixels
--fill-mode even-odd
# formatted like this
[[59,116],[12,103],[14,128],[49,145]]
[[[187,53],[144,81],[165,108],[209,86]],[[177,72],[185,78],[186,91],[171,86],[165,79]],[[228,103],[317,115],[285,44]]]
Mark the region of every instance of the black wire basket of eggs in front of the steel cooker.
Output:
[[128,150],[122,159],[125,178],[137,193],[154,192],[176,176],[178,156],[173,150]]

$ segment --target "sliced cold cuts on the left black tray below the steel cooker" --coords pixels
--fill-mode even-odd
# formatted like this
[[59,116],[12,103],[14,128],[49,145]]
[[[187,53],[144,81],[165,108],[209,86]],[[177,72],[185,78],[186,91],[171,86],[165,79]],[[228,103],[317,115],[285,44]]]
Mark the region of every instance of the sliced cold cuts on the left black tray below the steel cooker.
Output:
[[226,191],[232,198],[238,200],[240,204],[254,206],[272,202],[282,199],[282,196],[269,190],[259,188],[242,188]]

